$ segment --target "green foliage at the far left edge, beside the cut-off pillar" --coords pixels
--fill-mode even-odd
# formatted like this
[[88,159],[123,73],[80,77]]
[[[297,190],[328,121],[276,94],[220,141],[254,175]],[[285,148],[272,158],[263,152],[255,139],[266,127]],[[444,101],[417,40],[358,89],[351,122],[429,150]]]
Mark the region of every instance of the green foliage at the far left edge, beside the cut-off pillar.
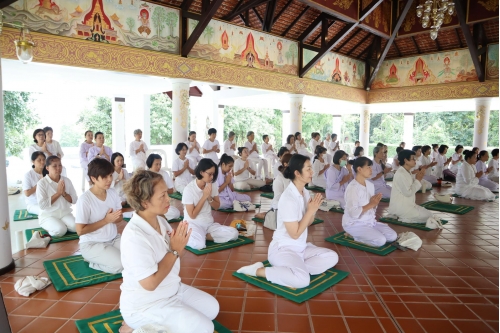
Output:
[[6,155],[20,156],[32,142],[29,130],[39,124],[38,115],[30,109],[31,93],[4,91],[4,130]]

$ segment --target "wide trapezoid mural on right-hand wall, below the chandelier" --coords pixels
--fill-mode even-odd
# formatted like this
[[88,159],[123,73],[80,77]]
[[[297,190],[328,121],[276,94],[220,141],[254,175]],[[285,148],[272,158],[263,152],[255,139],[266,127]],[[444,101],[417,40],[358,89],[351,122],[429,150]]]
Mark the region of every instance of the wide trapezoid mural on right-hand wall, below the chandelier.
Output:
[[372,89],[477,81],[468,49],[387,60]]

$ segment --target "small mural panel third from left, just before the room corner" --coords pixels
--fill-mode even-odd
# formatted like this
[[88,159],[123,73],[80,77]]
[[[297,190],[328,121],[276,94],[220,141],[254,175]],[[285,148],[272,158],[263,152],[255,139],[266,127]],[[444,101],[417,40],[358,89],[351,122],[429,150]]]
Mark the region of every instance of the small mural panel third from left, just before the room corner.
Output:
[[[303,62],[307,64],[317,54],[304,49]],[[305,78],[363,88],[365,83],[365,63],[333,52],[321,58],[311,68]]]

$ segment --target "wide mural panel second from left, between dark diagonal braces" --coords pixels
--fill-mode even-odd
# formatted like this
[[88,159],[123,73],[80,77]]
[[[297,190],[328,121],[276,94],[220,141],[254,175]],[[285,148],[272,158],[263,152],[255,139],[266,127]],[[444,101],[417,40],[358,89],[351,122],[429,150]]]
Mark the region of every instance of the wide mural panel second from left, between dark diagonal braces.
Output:
[[[188,35],[197,24],[188,21]],[[296,42],[211,20],[188,56],[297,75],[298,52]]]

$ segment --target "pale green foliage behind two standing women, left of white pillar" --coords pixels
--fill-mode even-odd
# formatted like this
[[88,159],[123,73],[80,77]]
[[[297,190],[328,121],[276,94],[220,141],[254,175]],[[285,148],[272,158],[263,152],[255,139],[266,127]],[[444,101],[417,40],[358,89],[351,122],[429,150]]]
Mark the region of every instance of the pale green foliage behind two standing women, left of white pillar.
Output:
[[[105,145],[112,145],[111,98],[89,97],[91,106],[80,113],[77,124],[82,124],[85,131],[104,133]],[[80,133],[83,137],[83,133]],[[81,139],[83,140],[83,139]]]

